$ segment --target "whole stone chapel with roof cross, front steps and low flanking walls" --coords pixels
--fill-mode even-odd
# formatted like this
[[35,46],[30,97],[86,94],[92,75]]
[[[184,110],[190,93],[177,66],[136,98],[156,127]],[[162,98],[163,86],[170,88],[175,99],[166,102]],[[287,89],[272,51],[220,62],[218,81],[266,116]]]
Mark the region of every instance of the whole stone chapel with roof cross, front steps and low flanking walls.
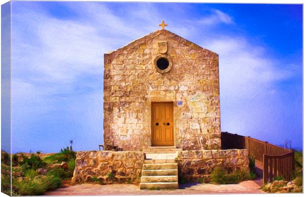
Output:
[[77,152],[72,184],[178,189],[250,170],[248,150],[221,150],[218,54],[159,26],[104,55],[105,150]]

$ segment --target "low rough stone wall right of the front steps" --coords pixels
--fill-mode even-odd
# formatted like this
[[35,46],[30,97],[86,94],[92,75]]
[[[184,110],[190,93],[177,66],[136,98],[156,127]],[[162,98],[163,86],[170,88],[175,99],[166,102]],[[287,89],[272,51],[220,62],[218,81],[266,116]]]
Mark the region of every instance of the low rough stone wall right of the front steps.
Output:
[[203,178],[208,181],[214,168],[220,166],[228,173],[249,170],[248,150],[177,151],[179,176],[187,181]]

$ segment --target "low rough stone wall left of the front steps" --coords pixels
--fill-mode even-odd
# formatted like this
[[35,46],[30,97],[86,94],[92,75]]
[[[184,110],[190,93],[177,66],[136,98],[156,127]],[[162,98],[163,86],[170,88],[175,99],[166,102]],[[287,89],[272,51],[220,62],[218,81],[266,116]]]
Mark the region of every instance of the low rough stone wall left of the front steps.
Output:
[[143,152],[77,152],[72,184],[91,182],[94,177],[102,183],[138,182],[144,160]]

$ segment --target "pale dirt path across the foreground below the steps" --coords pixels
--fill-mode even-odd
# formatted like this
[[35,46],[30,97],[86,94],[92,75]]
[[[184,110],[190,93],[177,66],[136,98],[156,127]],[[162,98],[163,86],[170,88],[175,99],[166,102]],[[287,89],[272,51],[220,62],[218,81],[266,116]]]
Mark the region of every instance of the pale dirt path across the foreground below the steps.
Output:
[[181,184],[178,190],[139,190],[133,184],[80,184],[60,188],[45,193],[47,196],[101,196],[101,195],[183,195],[183,194],[252,194],[264,193],[257,182],[244,181],[239,184],[214,185],[188,183]]

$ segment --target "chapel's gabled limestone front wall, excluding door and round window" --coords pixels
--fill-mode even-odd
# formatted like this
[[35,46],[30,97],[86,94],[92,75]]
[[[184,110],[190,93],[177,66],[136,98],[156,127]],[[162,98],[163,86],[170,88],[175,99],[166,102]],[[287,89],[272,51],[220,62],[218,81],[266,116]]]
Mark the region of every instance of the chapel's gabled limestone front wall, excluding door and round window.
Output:
[[[172,69],[153,66],[166,41]],[[221,149],[218,55],[158,30],[104,56],[104,144],[141,151],[151,146],[151,103],[174,102],[174,145]],[[182,105],[177,105],[182,101]]]

